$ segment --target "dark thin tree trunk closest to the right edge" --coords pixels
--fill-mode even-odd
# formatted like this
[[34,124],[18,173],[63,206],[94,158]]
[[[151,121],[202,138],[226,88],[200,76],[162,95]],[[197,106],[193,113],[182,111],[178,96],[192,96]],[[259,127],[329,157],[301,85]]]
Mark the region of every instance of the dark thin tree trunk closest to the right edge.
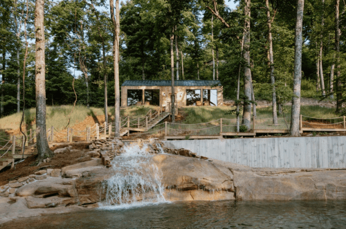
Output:
[[336,113],[343,109],[343,88],[340,79],[340,28],[339,28],[340,0],[335,0],[335,49],[336,49]]

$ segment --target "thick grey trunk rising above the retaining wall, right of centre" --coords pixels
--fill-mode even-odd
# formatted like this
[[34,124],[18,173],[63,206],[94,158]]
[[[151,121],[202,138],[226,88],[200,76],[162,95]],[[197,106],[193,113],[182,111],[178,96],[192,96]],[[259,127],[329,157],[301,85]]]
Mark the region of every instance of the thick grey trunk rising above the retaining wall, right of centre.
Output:
[[300,136],[300,87],[302,83],[302,19],[304,12],[304,0],[298,0],[297,19],[295,22],[295,54],[293,98],[291,113],[291,136]]

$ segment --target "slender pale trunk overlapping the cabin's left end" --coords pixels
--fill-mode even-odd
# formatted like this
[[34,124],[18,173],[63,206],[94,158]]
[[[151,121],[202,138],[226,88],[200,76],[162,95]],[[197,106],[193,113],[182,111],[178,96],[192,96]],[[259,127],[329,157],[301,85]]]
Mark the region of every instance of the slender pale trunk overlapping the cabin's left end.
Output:
[[119,88],[119,34],[120,34],[120,10],[119,0],[116,0],[116,17],[114,18],[114,4],[113,0],[109,0],[111,6],[111,19],[113,21],[113,63],[114,63],[114,90],[116,97],[116,106],[114,108],[114,121],[115,121],[115,135],[120,137],[120,88]]

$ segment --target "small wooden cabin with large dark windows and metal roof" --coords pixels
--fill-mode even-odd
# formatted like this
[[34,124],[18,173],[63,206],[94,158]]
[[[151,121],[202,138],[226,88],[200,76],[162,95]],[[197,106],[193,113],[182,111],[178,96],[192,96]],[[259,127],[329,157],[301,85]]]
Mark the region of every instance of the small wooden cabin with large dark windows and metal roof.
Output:
[[[219,80],[176,80],[177,106],[221,106],[223,91]],[[127,80],[121,86],[121,106],[170,106],[172,81]]]

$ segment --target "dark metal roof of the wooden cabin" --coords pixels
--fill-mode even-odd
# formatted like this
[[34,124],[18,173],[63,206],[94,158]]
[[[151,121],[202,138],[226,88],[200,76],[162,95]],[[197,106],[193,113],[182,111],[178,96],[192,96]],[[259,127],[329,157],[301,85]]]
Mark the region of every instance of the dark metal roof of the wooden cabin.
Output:
[[[121,86],[172,86],[170,80],[127,80]],[[174,86],[221,86],[219,80],[175,80]]]

